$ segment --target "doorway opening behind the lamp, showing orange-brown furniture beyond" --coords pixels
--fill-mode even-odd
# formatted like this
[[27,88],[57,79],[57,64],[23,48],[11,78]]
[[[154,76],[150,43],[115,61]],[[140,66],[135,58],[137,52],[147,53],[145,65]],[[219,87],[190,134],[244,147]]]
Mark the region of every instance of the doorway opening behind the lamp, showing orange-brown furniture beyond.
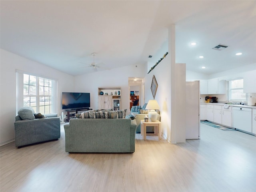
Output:
[[129,77],[129,103],[130,110],[132,106],[143,106],[145,102],[145,90],[144,90],[144,78],[141,77]]

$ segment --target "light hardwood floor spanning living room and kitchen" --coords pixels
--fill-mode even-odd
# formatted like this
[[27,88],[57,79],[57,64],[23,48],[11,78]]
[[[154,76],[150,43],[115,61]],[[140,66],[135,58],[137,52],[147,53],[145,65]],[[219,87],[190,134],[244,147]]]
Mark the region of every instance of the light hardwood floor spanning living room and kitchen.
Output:
[[0,147],[1,192],[255,192],[256,137],[201,124],[182,144],[136,134],[133,154],[66,153],[58,141]]

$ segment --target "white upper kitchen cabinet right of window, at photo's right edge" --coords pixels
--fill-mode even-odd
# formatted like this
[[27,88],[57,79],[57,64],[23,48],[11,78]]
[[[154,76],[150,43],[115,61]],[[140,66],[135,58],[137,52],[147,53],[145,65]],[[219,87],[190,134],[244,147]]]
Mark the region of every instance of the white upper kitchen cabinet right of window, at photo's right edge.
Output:
[[256,70],[244,75],[244,93],[256,93]]

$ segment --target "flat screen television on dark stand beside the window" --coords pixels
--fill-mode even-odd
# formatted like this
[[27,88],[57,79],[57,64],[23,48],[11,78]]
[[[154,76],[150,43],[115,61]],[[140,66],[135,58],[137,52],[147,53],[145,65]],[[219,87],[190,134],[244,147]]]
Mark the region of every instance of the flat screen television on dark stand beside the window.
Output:
[[90,107],[90,93],[62,92],[62,109]]

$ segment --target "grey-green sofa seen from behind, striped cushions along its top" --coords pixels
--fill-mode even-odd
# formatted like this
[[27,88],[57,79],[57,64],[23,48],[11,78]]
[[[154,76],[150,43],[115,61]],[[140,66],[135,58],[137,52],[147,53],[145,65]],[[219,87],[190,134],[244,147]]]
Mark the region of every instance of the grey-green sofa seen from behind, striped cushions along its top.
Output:
[[135,152],[135,120],[70,119],[64,130],[66,152]]

